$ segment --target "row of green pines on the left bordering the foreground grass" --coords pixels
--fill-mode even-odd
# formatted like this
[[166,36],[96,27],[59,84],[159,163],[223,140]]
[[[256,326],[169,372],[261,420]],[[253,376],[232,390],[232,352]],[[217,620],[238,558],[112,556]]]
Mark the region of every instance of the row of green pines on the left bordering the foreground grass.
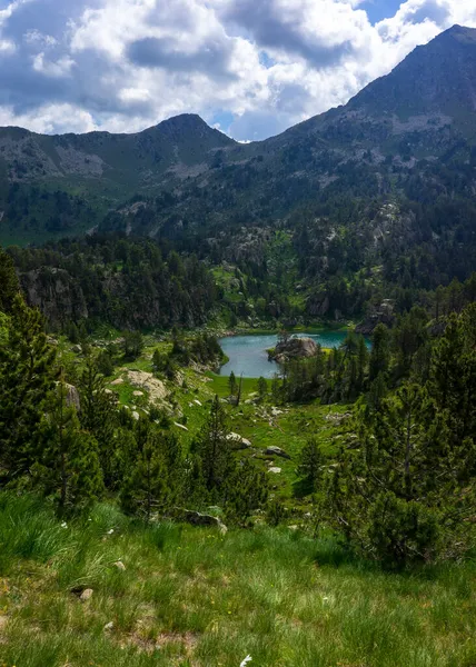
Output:
[[[137,419],[118,405],[97,358],[65,367],[41,315],[19,295],[12,267],[1,266],[10,280],[1,290],[0,488],[40,492],[62,517],[106,495],[145,520],[219,504],[227,520],[242,525],[266,506],[267,476],[239,462],[218,397],[185,451],[165,411],[151,407]],[[208,339],[200,345],[201,354],[212,347]]]

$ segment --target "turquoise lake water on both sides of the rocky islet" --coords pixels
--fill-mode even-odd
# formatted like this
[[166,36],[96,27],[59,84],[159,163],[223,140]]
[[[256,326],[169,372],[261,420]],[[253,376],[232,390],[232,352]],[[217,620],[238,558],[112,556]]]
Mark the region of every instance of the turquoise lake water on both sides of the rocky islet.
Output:
[[[298,334],[300,338],[313,338],[325,348],[336,348],[344,342],[346,331],[324,331],[323,334]],[[279,372],[276,361],[268,361],[267,349],[276,347],[278,337],[271,336],[230,336],[220,340],[224,352],[229,358],[221,367],[220,375],[231,371],[244,378],[272,378]]]

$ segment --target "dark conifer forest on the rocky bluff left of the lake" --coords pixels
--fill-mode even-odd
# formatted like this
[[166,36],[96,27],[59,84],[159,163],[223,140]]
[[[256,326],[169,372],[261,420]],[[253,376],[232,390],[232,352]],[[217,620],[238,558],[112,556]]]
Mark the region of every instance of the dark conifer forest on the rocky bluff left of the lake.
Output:
[[182,258],[148,239],[95,235],[8,252],[29,303],[54,329],[83,320],[119,329],[197,327],[220,296],[194,255]]

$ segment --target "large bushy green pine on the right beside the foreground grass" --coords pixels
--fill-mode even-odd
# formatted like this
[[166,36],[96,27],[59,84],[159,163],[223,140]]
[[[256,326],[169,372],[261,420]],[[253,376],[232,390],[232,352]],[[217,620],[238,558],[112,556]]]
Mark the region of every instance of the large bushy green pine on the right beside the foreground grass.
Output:
[[454,441],[448,412],[426,389],[406,384],[370,419],[359,415],[358,432],[339,455],[326,495],[335,527],[391,565],[465,548],[476,448]]

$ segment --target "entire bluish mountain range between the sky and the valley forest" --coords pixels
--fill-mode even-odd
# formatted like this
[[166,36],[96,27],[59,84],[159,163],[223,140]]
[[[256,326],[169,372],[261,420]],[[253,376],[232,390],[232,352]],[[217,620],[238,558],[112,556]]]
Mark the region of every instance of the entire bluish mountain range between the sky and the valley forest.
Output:
[[[475,82],[476,30],[455,26],[346,106],[261,142],[237,143],[198,116],[136,135],[4,128],[0,240],[99,227],[199,245],[215,239],[231,259],[256,260],[266,230],[295,231],[306,215],[323,221],[314,237],[335,237],[337,220],[364,233],[367,248],[393,233],[411,238],[418,216],[406,212],[409,202],[429,211],[442,200],[473,198]],[[391,207],[398,215],[389,216]]]

